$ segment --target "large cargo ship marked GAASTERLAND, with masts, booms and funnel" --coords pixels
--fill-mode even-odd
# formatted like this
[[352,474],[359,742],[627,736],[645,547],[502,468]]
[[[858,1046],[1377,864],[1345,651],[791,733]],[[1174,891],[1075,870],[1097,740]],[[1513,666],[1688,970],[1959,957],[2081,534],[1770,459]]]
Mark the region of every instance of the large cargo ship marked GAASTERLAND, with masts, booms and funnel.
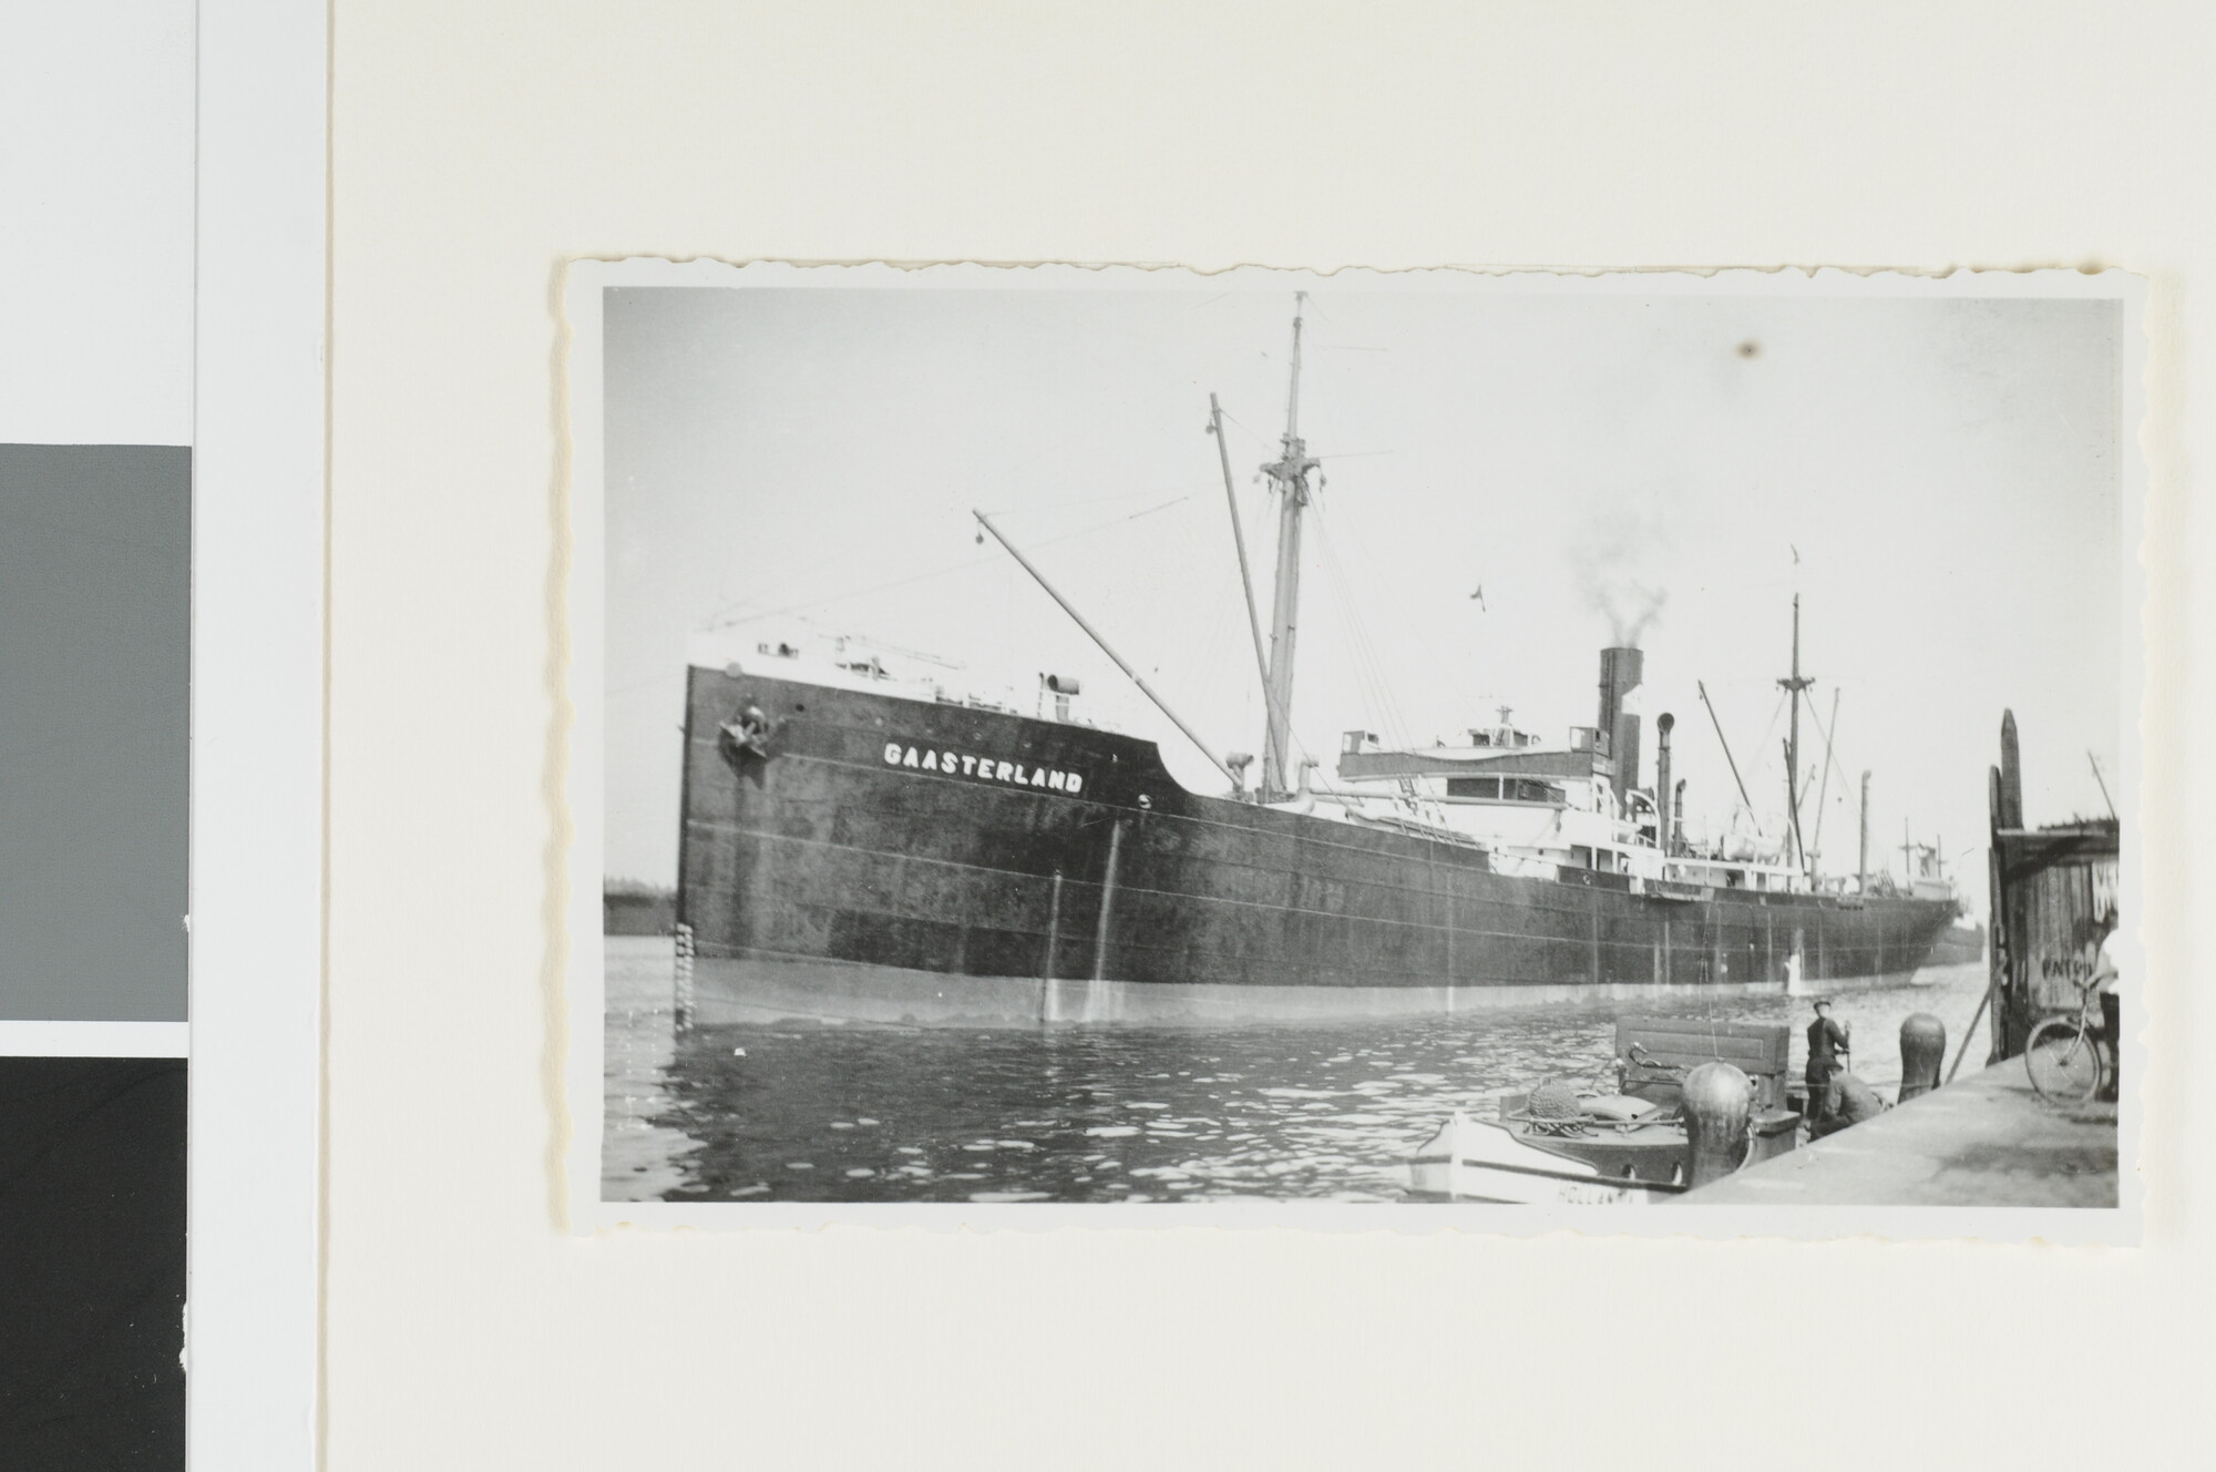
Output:
[[[1270,636],[1241,574],[1268,732],[1190,791],[1157,743],[1086,723],[1073,681],[1028,709],[948,689],[860,641],[689,654],[676,922],[698,1022],[957,1026],[1407,1018],[1602,998],[1906,980],[1952,898],[1824,878],[1797,842],[1695,840],[1673,718],[1642,778],[1644,654],[1600,652],[1591,727],[1509,720],[1387,749],[1347,732],[1336,774],[1294,760],[1301,317],[1281,454]],[[1221,419],[1212,419],[1223,454]],[[1230,490],[1230,461],[1223,454]],[[988,517],[984,530],[999,536]],[[1237,501],[1232,501],[1237,530]],[[1799,771],[1799,610],[1788,771]],[[1713,714],[1713,712],[1711,712]],[[1722,727],[1717,727],[1722,736]],[[1728,747],[1726,747],[1728,752]],[[1742,791],[1744,796],[1744,791]],[[1751,803],[1748,803],[1751,807]]]

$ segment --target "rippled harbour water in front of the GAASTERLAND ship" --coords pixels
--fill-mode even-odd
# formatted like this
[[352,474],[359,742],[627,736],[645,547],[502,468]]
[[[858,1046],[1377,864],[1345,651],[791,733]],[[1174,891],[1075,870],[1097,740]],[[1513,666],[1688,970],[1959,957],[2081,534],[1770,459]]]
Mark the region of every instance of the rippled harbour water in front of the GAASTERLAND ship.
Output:
[[[1890,1100],[1901,1018],[1946,1022],[1983,962],[1841,991],[1855,1073]],[[1713,998],[1254,1029],[674,1026],[667,938],[607,938],[609,1202],[1389,1202],[1451,1108],[1611,1075],[1620,1011],[1791,1022],[1808,1000]],[[1983,1024],[1970,1064],[1983,1062]]]

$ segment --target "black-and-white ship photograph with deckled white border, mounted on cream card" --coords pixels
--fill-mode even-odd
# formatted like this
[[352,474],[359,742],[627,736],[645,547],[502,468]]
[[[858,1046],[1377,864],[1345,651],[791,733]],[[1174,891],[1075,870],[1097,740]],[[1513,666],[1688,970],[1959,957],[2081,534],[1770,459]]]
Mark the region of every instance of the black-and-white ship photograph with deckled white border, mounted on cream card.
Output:
[[2107,1233],[2136,310],[574,262],[576,1226]]

